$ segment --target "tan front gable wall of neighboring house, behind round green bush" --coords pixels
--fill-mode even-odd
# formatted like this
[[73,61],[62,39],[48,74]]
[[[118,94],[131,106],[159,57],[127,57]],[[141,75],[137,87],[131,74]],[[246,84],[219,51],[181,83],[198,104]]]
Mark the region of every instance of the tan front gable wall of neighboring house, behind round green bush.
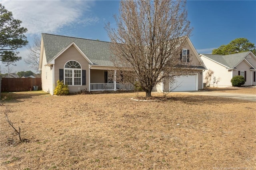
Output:
[[246,71],[246,82],[244,85],[252,85],[252,71],[245,61],[242,61],[236,66],[236,70],[233,70],[233,76],[238,75],[238,71]]

